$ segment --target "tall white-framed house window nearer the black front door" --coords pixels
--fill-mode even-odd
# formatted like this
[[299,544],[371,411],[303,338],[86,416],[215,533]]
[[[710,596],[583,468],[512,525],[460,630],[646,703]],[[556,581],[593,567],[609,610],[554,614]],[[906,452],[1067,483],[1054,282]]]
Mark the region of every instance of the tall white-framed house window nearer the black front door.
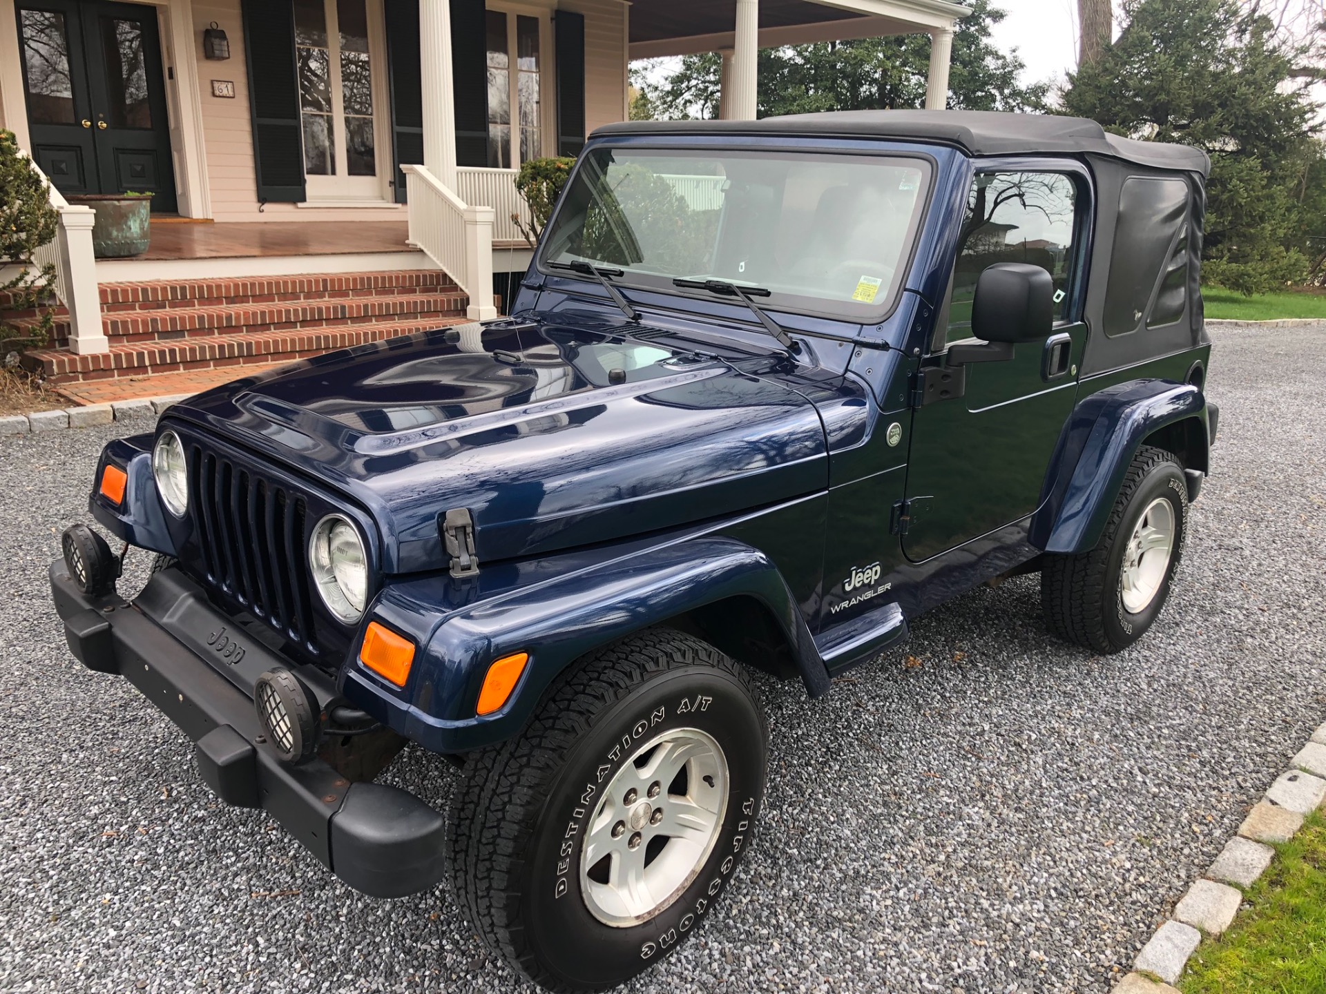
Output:
[[379,4],[294,0],[304,172],[310,199],[381,195],[375,77],[385,61],[378,56],[381,30],[370,30],[370,23],[381,21]]

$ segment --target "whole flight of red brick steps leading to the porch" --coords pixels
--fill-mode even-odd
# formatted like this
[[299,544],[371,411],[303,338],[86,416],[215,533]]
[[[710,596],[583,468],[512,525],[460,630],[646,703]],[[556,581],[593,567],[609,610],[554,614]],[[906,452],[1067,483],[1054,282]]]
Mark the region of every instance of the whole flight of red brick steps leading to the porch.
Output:
[[109,353],[69,351],[61,309],[24,364],[69,384],[292,362],[460,323],[468,304],[440,270],[103,284],[101,301]]

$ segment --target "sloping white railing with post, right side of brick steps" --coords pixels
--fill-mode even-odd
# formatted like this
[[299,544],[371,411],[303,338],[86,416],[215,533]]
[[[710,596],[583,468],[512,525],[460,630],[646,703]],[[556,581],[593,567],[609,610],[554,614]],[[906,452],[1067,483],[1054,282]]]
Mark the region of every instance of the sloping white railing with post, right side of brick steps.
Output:
[[471,321],[496,318],[493,208],[469,207],[423,166],[400,168],[408,176],[410,244],[469,294]]

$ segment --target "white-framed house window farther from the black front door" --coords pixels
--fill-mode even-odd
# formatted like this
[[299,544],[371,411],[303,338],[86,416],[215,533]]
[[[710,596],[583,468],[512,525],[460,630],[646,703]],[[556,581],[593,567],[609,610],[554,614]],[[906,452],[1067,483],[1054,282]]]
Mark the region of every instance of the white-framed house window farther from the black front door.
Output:
[[516,168],[520,163],[542,155],[540,101],[542,32],[542,17],[488,11],[488,164],[491,167]]

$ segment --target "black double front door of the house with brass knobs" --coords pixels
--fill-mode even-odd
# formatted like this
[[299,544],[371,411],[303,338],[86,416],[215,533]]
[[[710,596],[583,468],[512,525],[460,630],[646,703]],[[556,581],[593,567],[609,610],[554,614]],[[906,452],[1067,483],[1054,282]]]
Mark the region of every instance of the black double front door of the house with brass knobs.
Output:
[[174,211],[156,8],[23,0],[17,15],[32,155],[50,182]]

